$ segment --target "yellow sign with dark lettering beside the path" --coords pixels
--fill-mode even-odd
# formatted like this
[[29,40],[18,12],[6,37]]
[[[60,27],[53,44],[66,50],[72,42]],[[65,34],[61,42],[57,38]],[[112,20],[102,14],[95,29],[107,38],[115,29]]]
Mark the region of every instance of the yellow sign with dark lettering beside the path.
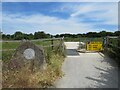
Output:
[[101,51],[103,50],[102,42],[87,42],[86,49],[88,51]]

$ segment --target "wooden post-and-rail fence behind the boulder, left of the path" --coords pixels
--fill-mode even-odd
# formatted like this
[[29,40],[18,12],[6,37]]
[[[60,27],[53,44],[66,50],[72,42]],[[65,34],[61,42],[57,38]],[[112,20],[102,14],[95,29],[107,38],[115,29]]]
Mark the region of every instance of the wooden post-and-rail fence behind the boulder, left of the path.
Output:
[[[52,55],[52,53],[65,55],[64,38],[37,39],[30,41],[35,45],[42,47],[48,59]],[[2,59],[10,59],[21,42],[21,40],[2,41],[2,43],[4,43],[2,50],[0,50],[2,52]],[[15,48],[11,47],[8,49],[8,47],[10,47],[14,43],[17,43],[17,46]],[[7,48],[5,48],[5,45],[7,46]]]

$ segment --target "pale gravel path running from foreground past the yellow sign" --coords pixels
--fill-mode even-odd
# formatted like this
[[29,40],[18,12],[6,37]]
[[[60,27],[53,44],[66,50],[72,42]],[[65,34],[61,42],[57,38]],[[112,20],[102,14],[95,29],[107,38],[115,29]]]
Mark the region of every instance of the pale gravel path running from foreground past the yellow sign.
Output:
[[[78,53],[78,42],[67,42],[67,57],[62,65],[64,76],[55,82],[57,88],[117,88],[116,63],[99,53]],[[73,53],[73,55],[72,55]]]

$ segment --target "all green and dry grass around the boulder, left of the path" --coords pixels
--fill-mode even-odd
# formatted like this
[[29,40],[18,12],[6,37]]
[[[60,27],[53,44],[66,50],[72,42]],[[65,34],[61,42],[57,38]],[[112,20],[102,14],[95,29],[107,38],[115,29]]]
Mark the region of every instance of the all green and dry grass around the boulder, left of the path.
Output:
[[[37,46],[51,45],[51,41],[34,41],[33,43]],[[53,44],[56,43],[60,44],[60,41],[53,42]],[[9,49],[16,49],[20,43],[8,42],[3,43],[3,45],[3,88],[49,88],[51,86],[54,86],[56,79],[63,76],[61,65],[64,61],[65,55],[62,52],[62,47],[44,47],[45,58],[47,62],[46,69],[43,71],[37,70],[35,72],[31,72],[29,69],[27,69],[27,67],[22,67],[17,71],[7,69],[7,65],[9,64],[9,61],[15,52],[15,50]],[[6,51],[6,49],[8,50]]]

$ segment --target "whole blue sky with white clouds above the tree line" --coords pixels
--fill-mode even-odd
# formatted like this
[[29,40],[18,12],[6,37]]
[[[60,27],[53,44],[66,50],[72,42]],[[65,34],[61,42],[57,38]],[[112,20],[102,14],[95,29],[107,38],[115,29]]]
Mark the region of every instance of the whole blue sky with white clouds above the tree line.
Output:
[[118,30],[117,2],[3,2],[2,31],[51,34]]

